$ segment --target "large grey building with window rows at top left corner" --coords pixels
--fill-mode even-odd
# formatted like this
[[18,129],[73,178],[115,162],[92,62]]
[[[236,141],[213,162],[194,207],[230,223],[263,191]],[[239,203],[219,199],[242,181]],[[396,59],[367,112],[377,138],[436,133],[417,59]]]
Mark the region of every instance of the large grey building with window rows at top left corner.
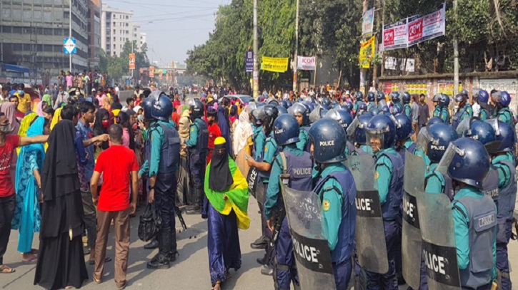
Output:
[[0,60],[34,68],[39,74],[68,71],[69,56],[64,54],[63,41],[69,36],[70,11],[72,37],[77,41],[72,70],[86,69],[88,0],[73,0],[72,9],[69,0],[0,0]]

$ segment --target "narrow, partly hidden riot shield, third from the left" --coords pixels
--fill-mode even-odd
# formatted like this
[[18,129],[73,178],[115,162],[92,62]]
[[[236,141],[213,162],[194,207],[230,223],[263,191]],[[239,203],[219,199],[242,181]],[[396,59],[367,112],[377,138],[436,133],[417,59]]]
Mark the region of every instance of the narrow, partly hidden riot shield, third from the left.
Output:
[[421,229],[417,192],[424,192],[424,162],[421,157],[405,153],[402,219],[402,272],[412,289],[419,289],[421,267]]

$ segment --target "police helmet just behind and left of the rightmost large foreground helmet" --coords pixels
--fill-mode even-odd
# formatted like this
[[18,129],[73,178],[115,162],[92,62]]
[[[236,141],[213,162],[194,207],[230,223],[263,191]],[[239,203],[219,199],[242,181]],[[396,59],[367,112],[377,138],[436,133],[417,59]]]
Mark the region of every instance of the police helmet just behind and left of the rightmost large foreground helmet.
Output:
[[436,123],[419,130],[417,144],[427,153],[429,159],[438,163],[449,143],[457,140],[458,135],[452,126],[445,123]]

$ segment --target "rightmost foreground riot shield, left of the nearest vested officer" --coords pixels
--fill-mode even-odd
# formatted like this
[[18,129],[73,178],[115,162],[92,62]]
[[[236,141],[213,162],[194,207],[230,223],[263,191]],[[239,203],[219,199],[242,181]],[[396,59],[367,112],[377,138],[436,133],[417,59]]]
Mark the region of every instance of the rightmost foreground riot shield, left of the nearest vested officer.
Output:
[[460,289],[452,205],[449,198],[446,195],[418,192],[417,208],[428,288]]

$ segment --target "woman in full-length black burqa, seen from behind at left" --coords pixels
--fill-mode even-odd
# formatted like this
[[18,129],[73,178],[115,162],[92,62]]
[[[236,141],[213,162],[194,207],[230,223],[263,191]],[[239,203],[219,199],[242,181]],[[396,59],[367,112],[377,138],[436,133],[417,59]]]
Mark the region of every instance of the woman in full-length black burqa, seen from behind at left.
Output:
[[77,174],[74,123],[61,120],[49,136],[41,171],[41,232],[34,284],[45,289],[80,288],[84,263],[83,204]]

